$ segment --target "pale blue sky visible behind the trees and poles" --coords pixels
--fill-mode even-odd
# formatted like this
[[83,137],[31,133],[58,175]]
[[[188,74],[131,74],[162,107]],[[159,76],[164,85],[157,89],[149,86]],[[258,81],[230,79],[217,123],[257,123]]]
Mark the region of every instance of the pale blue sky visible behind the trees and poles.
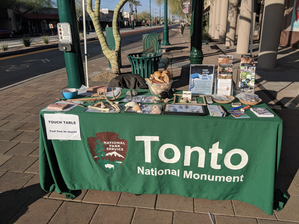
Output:
[[[118,3],[118,0],[101,0],[100,8],[101,9],[107,9],[108,10],[114,10],[116,4]],[[94,1],[93,1],[94,4]],[[155,0],[151,0],[151,14],[153,16],[159,16],[160,14],[160,6],[157,6],[157,3]],[[124,5],[123,10],[125,12],[130,12],[129,9],[129,3]],[[135,6],[133,5],[133,10],[135,10]],[[141,0],[141,6],[137,6],[137,13],[142,11],[148,11],[149,12],[149,0]],[[164,15],[164,7],[161,5],[161,17]]]

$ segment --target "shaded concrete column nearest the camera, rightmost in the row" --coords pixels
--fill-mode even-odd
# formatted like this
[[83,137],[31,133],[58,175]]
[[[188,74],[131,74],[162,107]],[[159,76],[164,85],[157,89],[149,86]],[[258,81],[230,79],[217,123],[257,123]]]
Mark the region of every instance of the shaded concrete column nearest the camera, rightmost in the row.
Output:
[[284,0],[265,0],[258,67],[274,68],[276,66],[283,16]]

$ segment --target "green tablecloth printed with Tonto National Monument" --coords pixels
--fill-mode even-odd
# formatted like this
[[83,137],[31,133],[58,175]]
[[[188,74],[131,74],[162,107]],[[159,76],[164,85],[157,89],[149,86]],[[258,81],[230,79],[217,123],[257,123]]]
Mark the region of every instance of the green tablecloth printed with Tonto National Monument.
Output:
[[40,184],[71,198],[78,189],[177,194],[239,200],[272,214],[282,120],[251,111],[246,119],[210,117],[205,109],[206,116],[180,116],[77,106],[65,113],[79,116],[81,141],[48,140],[44,114],[54,112],[40,112]]

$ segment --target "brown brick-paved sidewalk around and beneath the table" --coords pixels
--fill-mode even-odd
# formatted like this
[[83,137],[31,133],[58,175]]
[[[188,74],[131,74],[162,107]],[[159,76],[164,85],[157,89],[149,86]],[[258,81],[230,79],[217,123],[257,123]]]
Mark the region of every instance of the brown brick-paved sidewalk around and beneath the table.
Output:
[[[184,36],[170,39],[168,50],[173,53],[173,87],[188,85],[189,30]],[[254,41],[254,55],[258,55]],[[209,49],[209,51],[208,51]],[[218,63],[220,54],[234,55],[234,79],[240,55],[236,46],[210,43],[203,47],[203,64]],[[123,72],[130,71],[126,54],[122,54]],[[276,186],[290,195],[282,211],[272,216],[259,208],[235,200],[213,201],[177,195],[140,195],[96,190],[77,191],[74,200],[56,192],[46,193],[39,185],[38,147],[39,110],[60,98],[66,88],[65,69],[26,80],[0,89],[0,223],[299,223],[298,171],[298,50],[279,47],[277,67],[257,69],[256,92],[269,105],[282,105],[276,113],[283,119],[283,142]],[[297,57],[298,59],[299,57]],[[237,60],[235,60],[237,59]],[[106,59],[89,62],[90,74],[107,68]],[[90,82],[89,85],[104,84]],[[107,84],[107,83],[106,83]]]

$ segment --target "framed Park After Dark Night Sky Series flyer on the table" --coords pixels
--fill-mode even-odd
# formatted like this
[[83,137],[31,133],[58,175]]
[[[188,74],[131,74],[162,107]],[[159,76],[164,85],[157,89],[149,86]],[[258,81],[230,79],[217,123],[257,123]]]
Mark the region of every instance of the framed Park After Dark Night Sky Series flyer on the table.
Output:
[[214,65],[190,65],[189,91],[212,94]]

